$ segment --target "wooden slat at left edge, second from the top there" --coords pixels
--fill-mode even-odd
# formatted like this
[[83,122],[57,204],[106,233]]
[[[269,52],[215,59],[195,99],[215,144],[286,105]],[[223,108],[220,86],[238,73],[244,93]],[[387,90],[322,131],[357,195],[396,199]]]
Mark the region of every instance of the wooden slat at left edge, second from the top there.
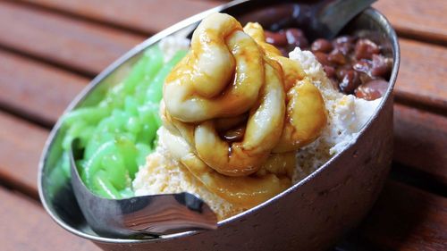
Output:
[[0,50],[0,106],[53,124],[89,79]]

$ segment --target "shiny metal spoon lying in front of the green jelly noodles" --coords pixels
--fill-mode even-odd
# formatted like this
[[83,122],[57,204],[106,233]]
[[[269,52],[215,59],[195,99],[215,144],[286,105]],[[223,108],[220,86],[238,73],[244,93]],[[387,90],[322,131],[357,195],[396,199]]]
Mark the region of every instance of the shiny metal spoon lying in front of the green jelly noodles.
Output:
[[[72,144],[75,147],[76,141]],[[105,237],[160,236],[188,230],[215,230],[215,213],[190,193],[123,199],[98,197],[82,180],[70,152],[72,187],[89,226]]]

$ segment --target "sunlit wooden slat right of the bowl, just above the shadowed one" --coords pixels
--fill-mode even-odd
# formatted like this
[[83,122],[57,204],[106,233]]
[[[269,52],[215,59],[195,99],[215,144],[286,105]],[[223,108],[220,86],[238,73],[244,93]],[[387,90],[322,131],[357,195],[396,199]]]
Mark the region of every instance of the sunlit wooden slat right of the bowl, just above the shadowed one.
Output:
[[401,70],[396,96],[447,114],[447,48],[402,38],[400,44]]

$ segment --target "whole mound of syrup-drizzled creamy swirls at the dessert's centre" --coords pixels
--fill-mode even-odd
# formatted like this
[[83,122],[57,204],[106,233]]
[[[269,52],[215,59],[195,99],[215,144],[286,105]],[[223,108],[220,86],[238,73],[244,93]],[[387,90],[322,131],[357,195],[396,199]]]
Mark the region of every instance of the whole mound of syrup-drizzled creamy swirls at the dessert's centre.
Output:
[[299,64],[266,43],[260,25],[242,29],[222,13],[194,32],[164,83],[161,113],[173,158],[244,208],[291,186],[291,155],[326,125],[323,98]]

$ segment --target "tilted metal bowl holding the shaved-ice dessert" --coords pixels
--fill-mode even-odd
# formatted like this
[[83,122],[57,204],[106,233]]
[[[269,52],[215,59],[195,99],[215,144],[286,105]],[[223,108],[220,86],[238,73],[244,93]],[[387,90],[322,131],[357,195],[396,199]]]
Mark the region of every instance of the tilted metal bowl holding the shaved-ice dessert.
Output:
[[[97,103],[95,94],[119,82],[141,52],[167,35],[190,36],[198,22],[213,12],[236,18],[274,1],[234,1],[181,21],[131,49],[93,79],[66,112]],[[284,1],[282,1],[284,2]],[[289,1],[299,2],[299,1]],[[38,170],[40,199],[46,212],[65,230],[88,238],[105,250],[324,250],[360,222],[374,204],[392,162],[392,88],[400,51],[398,38],[381,13],[367,9],[343,30],[361,30],[392,56],[390,86],[378,111],[342,153],[283,193],[261,205],[219,222],[217,230],[190,231],[160,238],[104,238],[89,229],[73,196],[69,179],[52,172],[62,153],[61,121],[52,130]],[[51,173],[51,175],[50,175]]]

